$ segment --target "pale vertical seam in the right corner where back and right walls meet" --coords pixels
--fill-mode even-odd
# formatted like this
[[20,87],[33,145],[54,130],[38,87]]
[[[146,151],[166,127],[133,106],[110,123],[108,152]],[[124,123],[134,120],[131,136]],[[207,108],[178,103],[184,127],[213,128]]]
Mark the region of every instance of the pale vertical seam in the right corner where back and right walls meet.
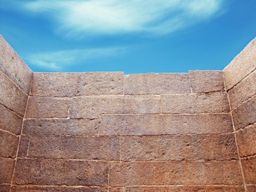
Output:
[[246,192],[247,189],[246,189],[246,183],[245,183],[245,178],[244,178],[243,166],[242,166],[242,163],[241,163],[241,157],[240,157],[240,154],[239,154],[239,148],[238,148],[238,145],[237,145],[236,129],[235,129],[234,119],[233,119],[233,115],[232,115],[232,108],[231,108],[231,103],[230,103],[230,99],[229,99],[228,90],[226,88],[225,79],[223,77],[223,72],[222,72],[222,78],[223,78],[224,88],[225,88],[225,91],[227,93],[227,99],[228,99],[228,104],[229,104],[229,109],[230,109],[230,116],[231,116],[231,120],[232,120],[233,134],[234,134],[234,138],[235,138],[235,141],[236,141],[237,156],[238,156],[238,159],[239,159],[240,169],[241,169],[241,173],[242,173],[244,191]]

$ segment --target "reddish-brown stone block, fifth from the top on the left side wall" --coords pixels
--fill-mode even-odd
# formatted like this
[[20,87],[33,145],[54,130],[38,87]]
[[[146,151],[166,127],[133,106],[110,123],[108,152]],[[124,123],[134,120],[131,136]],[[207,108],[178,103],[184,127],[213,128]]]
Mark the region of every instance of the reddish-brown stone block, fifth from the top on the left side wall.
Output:
[[14,159],[0,157],[0,184],[11,183]]

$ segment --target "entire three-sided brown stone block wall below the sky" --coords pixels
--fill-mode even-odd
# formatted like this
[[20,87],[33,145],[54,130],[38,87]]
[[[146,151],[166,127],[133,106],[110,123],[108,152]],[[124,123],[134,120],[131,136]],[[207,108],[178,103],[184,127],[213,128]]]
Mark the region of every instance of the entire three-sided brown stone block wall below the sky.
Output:
[[0,191],[255,191],[255,42],[223,72],[33,73],[30,92],[1,54]]

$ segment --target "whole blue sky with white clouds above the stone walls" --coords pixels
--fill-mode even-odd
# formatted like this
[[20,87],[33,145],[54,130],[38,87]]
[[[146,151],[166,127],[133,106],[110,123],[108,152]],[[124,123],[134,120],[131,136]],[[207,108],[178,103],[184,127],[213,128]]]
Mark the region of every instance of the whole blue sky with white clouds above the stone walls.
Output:
[[222,70],[256,36],[255,0],[0,0],[35,72]]

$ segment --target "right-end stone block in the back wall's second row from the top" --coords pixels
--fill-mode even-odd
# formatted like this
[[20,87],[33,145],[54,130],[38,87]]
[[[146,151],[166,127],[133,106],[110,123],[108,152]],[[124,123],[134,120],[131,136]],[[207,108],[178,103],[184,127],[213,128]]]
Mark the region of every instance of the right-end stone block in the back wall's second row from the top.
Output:
[[191,93],[161,96],[162,113],[228,113],[227,93]]

